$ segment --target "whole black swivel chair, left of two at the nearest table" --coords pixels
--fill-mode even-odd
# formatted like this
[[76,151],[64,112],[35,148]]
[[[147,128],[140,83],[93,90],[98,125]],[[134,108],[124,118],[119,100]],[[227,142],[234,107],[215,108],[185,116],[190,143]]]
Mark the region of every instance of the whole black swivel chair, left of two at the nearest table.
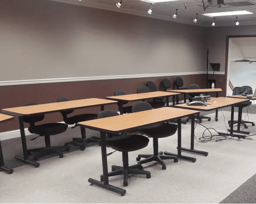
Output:
[[[98,114],[98,118],[106,118],[119,115],[113,110],[104,110]],[[124,186],[128,186],[129,174],[145,174],[146,178],[151,177],[150,171],[142,170],[141,164],[129,166],[128,152],[140,150],[148,145],[149,139],[143,135],[124,134],[124,135],[107,135],[106,146],[112,149],[122,152],[123,166],[112,166],[112,171],[108,173],[108,176],[124,175]],[[103,181],[103,174],[100,176],[100,181]]]

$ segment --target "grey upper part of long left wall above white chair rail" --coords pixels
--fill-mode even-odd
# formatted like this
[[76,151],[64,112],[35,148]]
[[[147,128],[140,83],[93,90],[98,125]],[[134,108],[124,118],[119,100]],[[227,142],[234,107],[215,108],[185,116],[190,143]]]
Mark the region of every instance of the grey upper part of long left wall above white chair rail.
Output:
[[202,72],[205,29],[48,0],[1,0],[0,81]]

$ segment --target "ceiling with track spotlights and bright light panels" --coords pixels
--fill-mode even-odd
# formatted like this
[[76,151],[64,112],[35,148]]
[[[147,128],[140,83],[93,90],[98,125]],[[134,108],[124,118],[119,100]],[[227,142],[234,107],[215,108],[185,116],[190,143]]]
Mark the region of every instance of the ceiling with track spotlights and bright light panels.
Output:
[[[93,8],[100,8],[104,10],[116,11],[121,13],[128,13],[151,18],[175,21],[186,24],[194,24],[193,19],[198,13],[198,26],[211,27],[213,22],[212,17],[203,16],[203,13],[225,12],[225,11],[240,11],[246,10],[254,14],[238,15],[240,25],[256,25],[256,0],[224,0],[221,7],[217,7],[217,0],[212,0],[213,5],[203,11],[202,0],[177,0],[170,2],[161,2],[153,4],[152,14],[148,14],[147,10],[151,7],[150,3],[140,0],[122,0],[122,6],[118,8],[116,3],[120,0],[53,0],[63,3],[82,5]],[[239,3],[243,2],[243,3]],[[185,9],[184,4],[187,3]],[[231,3],[231,4],[230,4]],[[232,3],[239,3],[239,6],[233,6]],[[241,4],[247,5],[241,5]],[[204,0],[205,6],[208,5],[207,0]],[[251,5],[248,5],[251,4]],[[174,19],[173,14],[178,9],[177,17]],[[236,16],[216,17],[215,26],[236,26]],[[256,27],[255,27],[256,28]]]

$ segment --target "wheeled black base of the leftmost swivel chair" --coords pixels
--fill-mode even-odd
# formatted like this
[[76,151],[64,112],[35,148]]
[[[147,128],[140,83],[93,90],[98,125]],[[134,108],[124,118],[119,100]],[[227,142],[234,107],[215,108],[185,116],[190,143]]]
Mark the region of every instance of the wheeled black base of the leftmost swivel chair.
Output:
[[38,152],[34,155],[34,160],[38,160],[39,157],[43,157],[45,155],[57,153],[59,158],[63,158],[63,153],[61,150],[65,149],[69,151],[68,146],[58,146],[58,147],[43,147],[43,148],[35,148],[28,150],[28,154],[31,155],[31,152]]

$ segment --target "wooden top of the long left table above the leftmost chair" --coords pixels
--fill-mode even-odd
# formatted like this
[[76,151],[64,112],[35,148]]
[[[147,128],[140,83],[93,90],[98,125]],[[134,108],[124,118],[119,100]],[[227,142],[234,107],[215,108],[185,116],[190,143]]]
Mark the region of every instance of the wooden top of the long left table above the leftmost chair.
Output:
[[54,113],[59,111],[67,111],[70,109],[80,109],[80,108],[88,108],[100,105],[109,105],[117,103],[117,101],[106,100],[106,99],[81,99],[81,100],[73,100],[73,101],[63,101],[63,102],[55,102],[55,103],[45,103],[38,105],[30,105],[30,106],[21,106],[14,108],[4,108],[2,109],[3,113],[8,113],[10,115],[16,116],[31,116],[45,113]]

